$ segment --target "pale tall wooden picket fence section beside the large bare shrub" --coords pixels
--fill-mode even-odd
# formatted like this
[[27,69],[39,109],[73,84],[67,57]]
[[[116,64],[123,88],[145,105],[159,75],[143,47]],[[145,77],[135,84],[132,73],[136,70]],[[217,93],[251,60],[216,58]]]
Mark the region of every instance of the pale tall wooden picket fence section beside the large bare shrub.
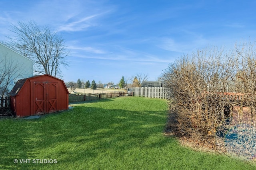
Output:
[[133,96],[145,97],[145,98],[159,98],[167,99],[168,94],[164,87],[133,87]]

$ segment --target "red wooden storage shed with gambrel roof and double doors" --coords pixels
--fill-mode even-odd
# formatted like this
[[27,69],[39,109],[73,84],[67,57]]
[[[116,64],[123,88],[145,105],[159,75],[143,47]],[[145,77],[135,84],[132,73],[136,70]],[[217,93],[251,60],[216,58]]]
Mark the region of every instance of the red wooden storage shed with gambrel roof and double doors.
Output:
[[18,80],[10,92],[17,117],[68,109],[68,89],[63,80],[48,74]]

